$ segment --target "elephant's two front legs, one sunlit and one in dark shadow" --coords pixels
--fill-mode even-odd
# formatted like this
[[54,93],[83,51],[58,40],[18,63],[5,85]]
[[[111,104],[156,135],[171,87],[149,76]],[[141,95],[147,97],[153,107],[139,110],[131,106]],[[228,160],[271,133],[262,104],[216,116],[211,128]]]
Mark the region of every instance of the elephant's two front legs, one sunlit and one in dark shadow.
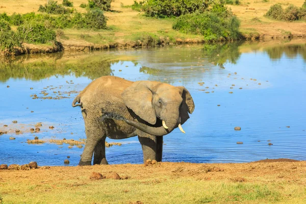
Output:
[[156,137],[139,131],[138,139],[143,152],[143,162],[148,159],[162,161],[163,136]]

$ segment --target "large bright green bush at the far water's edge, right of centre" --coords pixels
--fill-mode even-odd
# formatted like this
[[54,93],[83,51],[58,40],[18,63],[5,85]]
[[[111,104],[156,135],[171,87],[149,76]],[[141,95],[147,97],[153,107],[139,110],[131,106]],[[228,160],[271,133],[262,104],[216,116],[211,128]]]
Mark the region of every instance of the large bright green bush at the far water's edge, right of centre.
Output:
[[206,40],[240,39],[240,22],[236,16],[221,17],[214,12],[195,12],[178,17],[172,26],[183,33],[203,35]]

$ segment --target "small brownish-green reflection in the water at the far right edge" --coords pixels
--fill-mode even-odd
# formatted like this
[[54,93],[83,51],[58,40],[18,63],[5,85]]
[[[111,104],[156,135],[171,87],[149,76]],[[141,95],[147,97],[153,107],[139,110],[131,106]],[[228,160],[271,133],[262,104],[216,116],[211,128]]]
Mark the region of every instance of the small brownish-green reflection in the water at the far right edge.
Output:
[[270,59],[281,59],[285,54],[288,58],[296,58],[300,55],[306,61],[306,44],[269,47],[264,50]]

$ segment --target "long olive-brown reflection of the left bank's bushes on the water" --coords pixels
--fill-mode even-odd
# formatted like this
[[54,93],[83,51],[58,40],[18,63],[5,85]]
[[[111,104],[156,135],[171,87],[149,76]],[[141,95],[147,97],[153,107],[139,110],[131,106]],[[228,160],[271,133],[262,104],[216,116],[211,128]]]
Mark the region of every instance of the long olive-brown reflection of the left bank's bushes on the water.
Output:
[[75,77],[87,77],[91,80],[104,75],[112,75],[111,65],[117,61],[109,61],[100,58],[86,58],[79,60],[58,61],[57,56],[51,61],[22,63],[20,61],[0,62],[0,81],[6,82],[10,78],[27,80],[41,80],[58,75],[74,75]]

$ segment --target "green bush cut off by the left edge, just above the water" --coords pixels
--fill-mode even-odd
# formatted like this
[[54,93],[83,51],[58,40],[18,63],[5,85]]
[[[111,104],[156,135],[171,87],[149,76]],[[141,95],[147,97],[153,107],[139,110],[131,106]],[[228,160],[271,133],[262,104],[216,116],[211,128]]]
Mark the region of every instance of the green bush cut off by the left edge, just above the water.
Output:
[[20,47],[19,37],[14,31],[0,32],[0,48],[7,49],[9,52],[14,51],[14,47]]

